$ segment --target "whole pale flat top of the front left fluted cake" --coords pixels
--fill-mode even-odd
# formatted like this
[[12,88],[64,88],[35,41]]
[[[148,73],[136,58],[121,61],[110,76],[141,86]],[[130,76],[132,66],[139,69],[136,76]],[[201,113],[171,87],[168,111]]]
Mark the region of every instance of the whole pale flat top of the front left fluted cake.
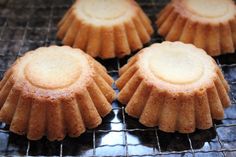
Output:
[[93,62],[79,49],[41,47],[19,58],[13,69],[15,87],[26,94],[60,96],[80,91],[92,79]]

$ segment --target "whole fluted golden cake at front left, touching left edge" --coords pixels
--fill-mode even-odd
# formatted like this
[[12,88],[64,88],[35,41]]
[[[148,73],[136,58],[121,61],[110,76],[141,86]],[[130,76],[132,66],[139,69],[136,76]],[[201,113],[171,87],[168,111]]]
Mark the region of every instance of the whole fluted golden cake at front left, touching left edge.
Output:
[[78,137],[111,111],[112,83],[79,49],[38,48],[17,59],[0,82],[0,121],[30,140]]

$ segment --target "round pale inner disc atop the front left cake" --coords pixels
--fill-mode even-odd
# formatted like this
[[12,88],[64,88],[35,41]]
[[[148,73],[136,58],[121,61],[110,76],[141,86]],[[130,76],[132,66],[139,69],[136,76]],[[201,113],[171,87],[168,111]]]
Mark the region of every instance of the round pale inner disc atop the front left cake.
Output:
[[[62,59],[63,58],[63,59]],[[58,89],[71,85],[80,76],[80,63],[70,55],[39,55],[25,67],[25,76],[33,85]]]

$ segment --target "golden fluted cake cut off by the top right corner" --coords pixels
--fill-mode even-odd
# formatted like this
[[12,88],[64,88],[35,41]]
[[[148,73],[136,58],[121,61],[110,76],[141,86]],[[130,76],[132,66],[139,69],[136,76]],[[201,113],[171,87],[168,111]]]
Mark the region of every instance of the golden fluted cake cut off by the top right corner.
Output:
[[172,0],[156,24],[166,40],[193,43],[211,56],[236,49],[236,6],[232,0]]

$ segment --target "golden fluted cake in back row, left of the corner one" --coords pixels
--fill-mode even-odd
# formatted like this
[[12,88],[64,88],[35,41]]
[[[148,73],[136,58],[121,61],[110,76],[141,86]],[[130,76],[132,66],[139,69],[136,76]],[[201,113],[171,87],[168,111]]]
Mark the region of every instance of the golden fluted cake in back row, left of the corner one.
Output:
[[77,0],[58,24],[57,37],[93,57],[123,57],[141,49],[153,33],[134,0]]

